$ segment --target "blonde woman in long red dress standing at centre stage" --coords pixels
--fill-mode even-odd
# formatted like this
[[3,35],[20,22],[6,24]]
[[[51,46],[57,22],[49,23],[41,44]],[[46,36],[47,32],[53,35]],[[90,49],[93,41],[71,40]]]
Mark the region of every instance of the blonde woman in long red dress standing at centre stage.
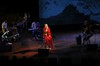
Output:
[[43,38],[44,38],[44,47],[45,48],[49,47],[50,49],[52,49],[54,46],[53,46],[51,31],[50,31],[50,28],[48,27],[48,24],[44,25]]

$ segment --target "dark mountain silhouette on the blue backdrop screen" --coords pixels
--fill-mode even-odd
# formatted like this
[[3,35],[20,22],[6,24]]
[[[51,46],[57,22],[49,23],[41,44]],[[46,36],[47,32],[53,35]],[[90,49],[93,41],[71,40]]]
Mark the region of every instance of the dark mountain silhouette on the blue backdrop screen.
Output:
[[68,5],[62,11],[62,13],[52,16],[50,18],[41,18],[41,23],[48,23],[50,25],[66,25],[66,24],[80,24],[84,19],[89,18],[89,16],[79,13],[75,6]]

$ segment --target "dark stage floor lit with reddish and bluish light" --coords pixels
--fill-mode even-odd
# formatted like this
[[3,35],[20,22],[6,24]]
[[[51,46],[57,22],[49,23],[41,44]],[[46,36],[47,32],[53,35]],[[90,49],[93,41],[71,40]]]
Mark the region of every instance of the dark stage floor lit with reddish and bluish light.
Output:
[[[87,51],[87,45],[77,44],[76,37],[78,35],[82,35],[80,30],[52,32],[54,49],[49,50],[48,57],[56,58],[58,63],[59,58],[71,59],[73,64],[80,64],[90,59],[100,61],[100,33],[94,34],[90,38],[90,45],[98,46],[92,51]],[[17,58],[37,57],[38,49],[43,49],[43,41],[35,40],[30,33],[22,34],[22,36],[20,41],[12,44],[12,51],[0,53],[0,56],[9,56],[9,59],[12,59],[13,56]]]

